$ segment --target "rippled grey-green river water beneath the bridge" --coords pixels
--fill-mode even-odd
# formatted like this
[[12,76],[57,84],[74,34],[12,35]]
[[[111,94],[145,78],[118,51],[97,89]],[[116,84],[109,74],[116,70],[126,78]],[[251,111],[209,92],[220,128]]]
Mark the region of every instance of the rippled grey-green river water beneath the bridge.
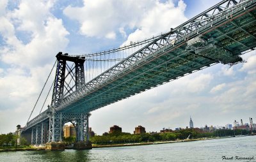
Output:
[[[223,159],[225,156],[226,159]],[[236,159],[240,158],[240,159]],[[233,157],[233,159],[232,159]],[[228,159],[231,158],[231,159]],[[253,158],[253,159],[241,159]],[[0,161],[256,161],[256,136],[75,151],[0,152]]]

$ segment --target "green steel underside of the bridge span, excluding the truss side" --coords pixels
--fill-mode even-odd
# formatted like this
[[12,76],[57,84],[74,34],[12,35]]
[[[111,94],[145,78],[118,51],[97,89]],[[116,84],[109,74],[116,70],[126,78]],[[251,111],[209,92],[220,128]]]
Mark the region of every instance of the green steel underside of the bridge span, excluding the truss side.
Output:
[[[61,112],[91,112],[134,94],[170,82],[216,63],[233,64],[241,61],[237,55],[256,47],[256,11],[252,10],[201,34],[207,43],[191,47],[180,41],[166,52],[153,55],[150,61],[141,60],[127,73],[120,73],[108,84],[72,103]],[[198,44],[198,43],[197,43]]]

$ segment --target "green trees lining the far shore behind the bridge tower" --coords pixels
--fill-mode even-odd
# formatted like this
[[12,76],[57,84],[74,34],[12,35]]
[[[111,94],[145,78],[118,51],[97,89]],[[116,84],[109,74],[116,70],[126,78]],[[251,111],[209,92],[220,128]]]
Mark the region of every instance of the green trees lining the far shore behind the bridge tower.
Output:
[[[148,144],[163,144],[172,142],[185,142],[195,140],[205,140],[210,138],[219,138],[237,135],[251,135],[251,131],[244,129],[218,129],[212,133],[199,132],[196,129],[180,129],[179,131],[172,131],[168,133],[143,133],[131,134],[114,131],[113,133],[106,133],[104,135],[96,135],[90,138],[93,147],[119,147],[126,145],[148,145]],[[25,138],[20,138],[20,145],[17,144],[19,136],[13,133],[0,135],[0,151],[29,151],[41,150],[44,147],[34,147],[29,145]],[[64,142],[68,146],[76,142],[75,136],[64,138]]]

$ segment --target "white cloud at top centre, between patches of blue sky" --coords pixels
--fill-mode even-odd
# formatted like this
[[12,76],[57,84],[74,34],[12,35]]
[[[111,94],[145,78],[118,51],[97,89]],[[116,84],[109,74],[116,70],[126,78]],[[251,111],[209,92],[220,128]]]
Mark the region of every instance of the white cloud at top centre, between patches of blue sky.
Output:
[[[145,6],[147,4],[147,6]],[[83,7],[68,6],[64,13],[78,20],[80,32],[85,36],[106,37],[108,33],[116,33],[120,27],[134,27],[140,20],[143,11],[152,6],[153,1],[88,1]]]

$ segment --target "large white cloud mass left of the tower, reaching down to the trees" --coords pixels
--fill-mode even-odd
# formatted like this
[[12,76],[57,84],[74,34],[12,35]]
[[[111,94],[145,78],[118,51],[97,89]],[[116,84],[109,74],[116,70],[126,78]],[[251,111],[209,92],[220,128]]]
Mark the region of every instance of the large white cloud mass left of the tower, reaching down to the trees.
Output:
[[[0,75],[1,124],[6,124],[4,120],[8,114],[15,114],[12,122],[6,124],[5,131],[13,130],[17,124],[25,124],[52,68],[54,56],[68,45],[68,31],[62,20],[51,13],[53,4],[51,0],[20,1],[11,11],[4,7],[6,3],[0,3],[0,34],[3,38],[0,63],[4,64]],[[25,37],[29,35],[30,39],[24,42],[22,35],[17,33],[24,33]],[[49,90],[50,86],[47,84],[45,89]],[[45,94],[38,105],[42,106]],[[40,108],[36,111],[38,113]],[[6,133],[2,128],[0,131]]]

